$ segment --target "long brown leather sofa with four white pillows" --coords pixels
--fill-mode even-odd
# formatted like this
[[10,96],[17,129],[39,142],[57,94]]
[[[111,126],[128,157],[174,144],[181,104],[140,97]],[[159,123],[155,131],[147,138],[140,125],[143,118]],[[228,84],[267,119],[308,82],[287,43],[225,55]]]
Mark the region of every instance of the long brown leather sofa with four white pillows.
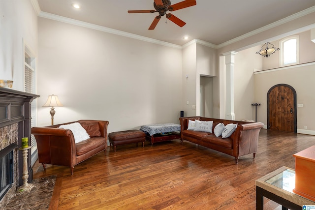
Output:
[[[184,117],[179,119],[181,122],[181,138],[213,150],[221,151],[235,157],[238,163],[240,156],[253,153],[253,158],[258,147],[258,135],[263,127],[261,122],[245,122],[235,120],[221,120],[204,117]],[[216,137],[212,133],[203,131],[187,130],[189,120],[213,121],[213,130],[218,123],[227,125],[228,123],[238,123],[236,130],[228,138]]]

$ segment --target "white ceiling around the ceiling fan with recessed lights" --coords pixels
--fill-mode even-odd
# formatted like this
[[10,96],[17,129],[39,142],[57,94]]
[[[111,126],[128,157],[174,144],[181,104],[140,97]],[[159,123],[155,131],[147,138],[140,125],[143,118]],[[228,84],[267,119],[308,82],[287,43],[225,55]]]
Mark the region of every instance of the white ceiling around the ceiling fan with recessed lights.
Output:
[[[171,0],[172,4],[181,1]],[[148,30],[158,13],[129,14],[127,10],[154,10],[153,2],[38,0],[40,14],[45,14],[41,16],[51,13],[176,45],[184,45],[193,39],[219,45],[310,7],[315,11],[315,0],[196,0],[195,6],[168,12],[186,22],[184,27],[163,16],[155,30]],[[72,3],[78,3],[81,8],[73,8]],[[185,35],[189,36],[188,40],[183,39]]]

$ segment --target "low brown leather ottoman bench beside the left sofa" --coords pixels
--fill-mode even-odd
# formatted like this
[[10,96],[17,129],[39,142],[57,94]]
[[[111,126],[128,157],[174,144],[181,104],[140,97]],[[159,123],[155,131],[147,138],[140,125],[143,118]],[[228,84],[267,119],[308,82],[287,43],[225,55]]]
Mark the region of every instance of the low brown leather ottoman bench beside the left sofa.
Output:
[[114,146],[114,151],[116,152],[117,145],[126,145],[131,143],[142,142],[142,147],[144,147],[144,142],[146,141],[146,134],[141,130],[125,130],[112,132],[108,134],[108,139],[110,146]]

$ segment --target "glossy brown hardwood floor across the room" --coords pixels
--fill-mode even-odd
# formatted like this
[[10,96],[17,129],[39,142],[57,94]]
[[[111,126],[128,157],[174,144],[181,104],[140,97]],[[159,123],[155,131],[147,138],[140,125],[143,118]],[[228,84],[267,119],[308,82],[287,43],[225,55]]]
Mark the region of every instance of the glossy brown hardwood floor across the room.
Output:
[[[180,140],[118,146],[74,167],[34,165],[34,179],[57,175],[50,209],[254,210],[255,180],[295,168],[294,153],[315,145],[315,136],[262,129],[258,152],[232,156]],[[264,200],[266,210],[281,206]]]

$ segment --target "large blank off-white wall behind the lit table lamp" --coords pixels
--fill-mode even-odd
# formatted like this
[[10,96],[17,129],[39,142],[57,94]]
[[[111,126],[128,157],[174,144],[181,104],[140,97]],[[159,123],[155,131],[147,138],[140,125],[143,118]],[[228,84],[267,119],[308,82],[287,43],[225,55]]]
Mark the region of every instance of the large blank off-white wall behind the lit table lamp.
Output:
[[108,132],[158,122],[179,123],[182,51],[58,21],[38,19],[38,125],[109,120]]

